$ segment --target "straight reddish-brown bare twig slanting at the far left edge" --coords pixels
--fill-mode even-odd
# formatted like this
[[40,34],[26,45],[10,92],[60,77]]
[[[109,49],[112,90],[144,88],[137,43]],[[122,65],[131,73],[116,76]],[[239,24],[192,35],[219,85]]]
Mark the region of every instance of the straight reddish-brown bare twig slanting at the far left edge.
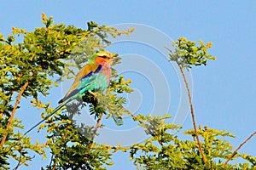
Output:
[[[29,83],[29,82],[26,82],[26,83],[24,84],[24,86],[23,86],[23,87],[21,88],[21,90],[20,90],[20,94],[18,95],[18,97],[17,97],[17,99],[16,99],[16,102],[15,102],[15,107],[14,107],[14,109],[13,109],[13,111],[12,111],[12,114],[11,114],[11,116],[10,116],[10,118],[9,118],[9,122],[8,122],[8,124],[7,124],[7,127],[6,127],[6,132],[8,132],[9,127],[11,126],[11,124],[12,124],[14,118],[15,118],[16,109],[17,109],[17,107],[18,107],[18,105],[19,105],[19,103],[20,103],[21,96],[22,96],[22,94],[24,93],[24,91],[25,91],[25,89],[26,89],[28,83]],[[0,144],[1,147],[3,147],[3,144],[4,144],[5,140],[6,140],[6,138],[7,138],[7,134],[5,134],[5,135],[3,136],[3,139],[2,139],[1,144]]]

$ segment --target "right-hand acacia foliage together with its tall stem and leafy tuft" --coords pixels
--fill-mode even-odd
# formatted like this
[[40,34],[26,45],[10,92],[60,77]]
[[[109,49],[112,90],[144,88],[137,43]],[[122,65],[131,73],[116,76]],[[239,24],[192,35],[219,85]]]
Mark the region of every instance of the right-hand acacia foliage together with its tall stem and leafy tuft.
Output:
[[[207,65],[209,59],[216,59],[207,53],[207,49],[212,47],[212,42],[205,45],[201,40],[200,45],[196,42],[180,37],[172,43],[174,50],[166,48],[170,54],[170,61],[177,64],[183,75],[183,82],[187,88],[190,112],[193,121],[193,129],[185,130],[184,134],[192,137],[193,140],[181,140],[177,135],[170,133],[176,129],[177,125],[167,124],[164,117],[151,117],[139,115],[146,126],[157,129],[155,135],[146,139],[142,144],[133,144],[131,147],[131,160],[137,167],[143,169],[255,169],[256,157],[245,153],[239,154],[237,151],[249,139],[255,135],[253,132],[236,150],[227,137],[235,138],[232,133],[224,130],[211,129],[207,126],[196,126],[195,111],[193,109],[192,98],[189,85],[183,69],[190,70],[193,66]],[[158,123],[155,123],[158,122]],[[156,126],[157,125],[157,126]],[[181,127],[180,127],[181,128]],[[161,141],[157,144],[156,141]],[[202,140],[202,141],[201,141]],[[236,165],[228,164],[231,159],[241,157],[246,160],[244,163]]]

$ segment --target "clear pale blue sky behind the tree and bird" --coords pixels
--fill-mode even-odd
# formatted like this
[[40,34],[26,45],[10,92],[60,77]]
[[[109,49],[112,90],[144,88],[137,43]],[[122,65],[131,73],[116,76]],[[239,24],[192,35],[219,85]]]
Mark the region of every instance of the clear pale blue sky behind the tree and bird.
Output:
[[[236,148],[256,129],[255,11],[255,1],[2,0],[0,32],[7,36],[12,26],[26,28],[27,31],[43,26],[40,22],[42,12],[53,16],[55,23],[63,22],[84,29],[86,22],[90,20],[107,26],[137,26],[138,33],[131,34],[131,42],[125,42],[124,38],[124,41],[121,39],[108,48],[123,56],[119,70],[124,72],[125,77],[132,77],[131,85],[137,89],[136,93],[129,97],[128,106],[134,111],[148,114],[154,108],[164,105],[167,99],[167,106],[170,108],[166,112],[173,116],[179,108],[186,105],[180,102],[183,85],[178,81],[174,66],[166,64],[165,55],[162,54],[163,47],[159,45],[168,42],[168,38],[175,40],[177,37],[212,41],[210,53],[215,55],[217,60],[210,61],[207,67],[201,66],[191,71],[196,121],[202,126],[234,133],[236,139],[230,141]],[[146,31],[141,33],[140,26]],[[159,36],[155,37],[157,34]],[[170,46],[171,43],[170,41],[163,46]],[[131,60],[136,56],[136,59],[141,60],[135,65]],[[158,76],[163,76],[159,79],[166,85],[158,84],[155,80]],[[47,99],[53,106],[57,105],[56,101],[63,95],[60,88],[55,88],[55,91],[58,93]],[[25,99],[22,102],[29,103]],[[140,105],[136,105],[137,103]],[[40,120],[40,112],[29,108],[28,105],[17,114],[24,121],[26,128]],[[129,126],[129,121],[127,122],[126,131],[134,127],[134,124]],[[190,115],[184,119],[183,127],[192,128]],[[36,131],[31,135],[33,139],[42,138],[42,133],[38,134]],[[240,151],[256,156],[255,142],[256,137]],[[135,169],[127,155],[120,153],[113,157],[113,161],[115,165],[109,169]],[[36,156],[30,163],[30,168],[38,169],[44,163],[40,156]]]

